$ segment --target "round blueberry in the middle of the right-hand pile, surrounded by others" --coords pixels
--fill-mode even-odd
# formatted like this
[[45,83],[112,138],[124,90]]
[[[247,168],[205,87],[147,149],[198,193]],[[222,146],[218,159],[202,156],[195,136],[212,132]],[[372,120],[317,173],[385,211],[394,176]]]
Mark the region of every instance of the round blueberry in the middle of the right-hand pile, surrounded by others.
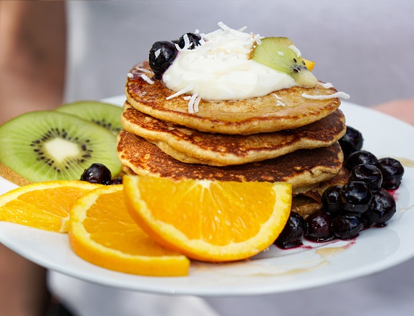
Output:
[[371,207],[372,193],[365,182],[348,182],[339,191],[344,211],[362,214]]

